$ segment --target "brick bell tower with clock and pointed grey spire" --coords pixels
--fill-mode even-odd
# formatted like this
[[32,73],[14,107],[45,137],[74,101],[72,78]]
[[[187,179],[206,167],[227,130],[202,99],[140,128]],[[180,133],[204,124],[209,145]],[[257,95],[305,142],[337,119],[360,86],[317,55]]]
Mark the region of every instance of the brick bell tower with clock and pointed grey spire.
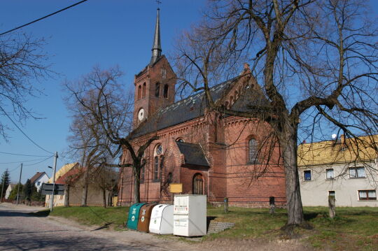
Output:
[[134,76],[133,128],[148,120],[158,110],[174,103],[175,85],[176,74],[165,55],[162,55],[158,8],[150,63]]

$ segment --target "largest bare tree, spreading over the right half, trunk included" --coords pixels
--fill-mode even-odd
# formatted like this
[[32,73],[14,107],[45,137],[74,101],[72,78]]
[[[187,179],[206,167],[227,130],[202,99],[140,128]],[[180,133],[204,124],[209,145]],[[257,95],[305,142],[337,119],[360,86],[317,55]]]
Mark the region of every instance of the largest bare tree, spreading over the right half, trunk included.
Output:
[[[377,22],[360,0],[213,0],[201,24],[180,39],[182,87],[204,90],[209,110],[272,127],[286,173],[286,227],[304,224],[298,132],[320,137],[328,121],[356,140],[377,134],[377,45]],[[210,92],[235,76],[241,62],[251,69],[247,65],[238,78],[255,87],[249,92],[261,87],[267,100],[243,112]]]

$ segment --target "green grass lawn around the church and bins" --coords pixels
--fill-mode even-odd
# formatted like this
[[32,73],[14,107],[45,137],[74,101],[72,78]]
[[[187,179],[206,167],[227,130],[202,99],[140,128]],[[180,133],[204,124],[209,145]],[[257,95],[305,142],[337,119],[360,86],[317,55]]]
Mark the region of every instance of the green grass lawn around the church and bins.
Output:
[[[66,217],[83,224],[117,229],[127,220],[129,208],[57,207],[50,215]],[[45,216],[49,211],[35,215]],[[295,234],[319,250],[378,250],[378,208],[336,208],[336,217],[328,218],[328,208],[306,207],[304,217],[314,229],[296,229]],[[276,209],[269,215],[268,208],[235,208],[223,213],[223,208],[207,208],[207,216],[219,222],[234,222],[235,227],[218,234],[204,236],[204,241],[215,238],[286,238],[280,228],[286,222],[286,210]]]

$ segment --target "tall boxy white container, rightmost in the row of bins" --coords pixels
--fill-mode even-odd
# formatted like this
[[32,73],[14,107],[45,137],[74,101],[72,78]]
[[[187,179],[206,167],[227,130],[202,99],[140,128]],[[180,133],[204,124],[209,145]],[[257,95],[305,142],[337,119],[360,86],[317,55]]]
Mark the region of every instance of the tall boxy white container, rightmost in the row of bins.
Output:
[[174,196],[174,235],[204,236],[207,230],[207,196]]

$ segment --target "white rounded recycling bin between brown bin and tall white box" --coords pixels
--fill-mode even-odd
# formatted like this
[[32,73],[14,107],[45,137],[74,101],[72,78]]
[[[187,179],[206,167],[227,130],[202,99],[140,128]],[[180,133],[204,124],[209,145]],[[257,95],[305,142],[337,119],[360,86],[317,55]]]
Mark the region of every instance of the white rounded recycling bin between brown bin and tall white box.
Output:
[[173,234],[173,205],[158,204],[151,212],[150,232]]

